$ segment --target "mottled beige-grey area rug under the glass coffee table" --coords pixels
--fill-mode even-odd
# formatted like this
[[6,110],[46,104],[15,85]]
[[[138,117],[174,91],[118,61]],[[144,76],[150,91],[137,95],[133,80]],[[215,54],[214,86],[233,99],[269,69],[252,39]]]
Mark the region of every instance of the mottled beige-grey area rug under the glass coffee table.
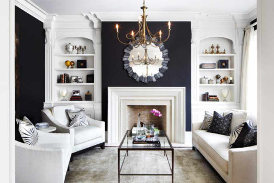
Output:
[[[104,150],[94,148],[74,156],[65,182],[118,182],[117,149],[117,147],[106,147]],[[124,154],[125,152],[121,151],[121,162]],[[171,161],[171,152],[167,154]],[[129,151],[121,173],[170,174],[170,168],[163,151]],[[168,183],[171,180],[171,176],[120,176],[121,183]],[[224,181],[197,150],[174,148],[174,182],[223,183]]]

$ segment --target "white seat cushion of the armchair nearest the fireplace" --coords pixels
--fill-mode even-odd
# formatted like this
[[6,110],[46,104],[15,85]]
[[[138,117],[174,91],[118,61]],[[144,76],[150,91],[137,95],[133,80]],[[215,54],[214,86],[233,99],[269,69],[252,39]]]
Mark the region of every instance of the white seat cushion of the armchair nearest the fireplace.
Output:
[[102,136],[101,128],[95,126],[74,127],[74,145]]

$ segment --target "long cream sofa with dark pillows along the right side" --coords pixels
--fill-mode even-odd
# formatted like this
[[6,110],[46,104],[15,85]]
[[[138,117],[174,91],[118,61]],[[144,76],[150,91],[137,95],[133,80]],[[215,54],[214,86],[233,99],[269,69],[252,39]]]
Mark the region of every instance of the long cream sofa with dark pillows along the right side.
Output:
[[[250,118],[257,125],[255,116],[247,114],[246,120]],[[225,182],[257,182],[257,146],[229,149],[229,136],[200,130],[201,124],[192,124],[193,150],[197,148]]]

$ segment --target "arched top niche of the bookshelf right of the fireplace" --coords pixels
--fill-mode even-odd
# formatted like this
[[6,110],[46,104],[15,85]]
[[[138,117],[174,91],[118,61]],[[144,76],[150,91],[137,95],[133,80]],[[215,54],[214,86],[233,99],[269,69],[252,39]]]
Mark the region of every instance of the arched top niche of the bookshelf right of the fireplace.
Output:
[[225,37],[205,37],[200,39],[200,44],[199,44],[199,52],[198,54],[203,54],[205,53],[205,49],[207,49],[207,51],[211,51],[211,45],[214,45],[214,51],[216,52],[216,46],[217,44],[219,44],[220,46],[220,51],[223,51],[223,49],[225,49],[225,52],[227,54],[230,53],[235,53],[235,49],[234,49],[234,44],[233,41],[231,39],[225,38]]

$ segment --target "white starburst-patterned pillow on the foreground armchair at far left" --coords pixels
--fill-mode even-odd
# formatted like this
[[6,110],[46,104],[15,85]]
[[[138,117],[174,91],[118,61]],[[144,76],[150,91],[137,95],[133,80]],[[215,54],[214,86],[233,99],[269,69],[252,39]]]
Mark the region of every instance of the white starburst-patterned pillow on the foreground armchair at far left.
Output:
[[38,132],[31,121],[24,116],[23,120],[16,119],[19,133],[25,144],[34,146],[38,143]]

